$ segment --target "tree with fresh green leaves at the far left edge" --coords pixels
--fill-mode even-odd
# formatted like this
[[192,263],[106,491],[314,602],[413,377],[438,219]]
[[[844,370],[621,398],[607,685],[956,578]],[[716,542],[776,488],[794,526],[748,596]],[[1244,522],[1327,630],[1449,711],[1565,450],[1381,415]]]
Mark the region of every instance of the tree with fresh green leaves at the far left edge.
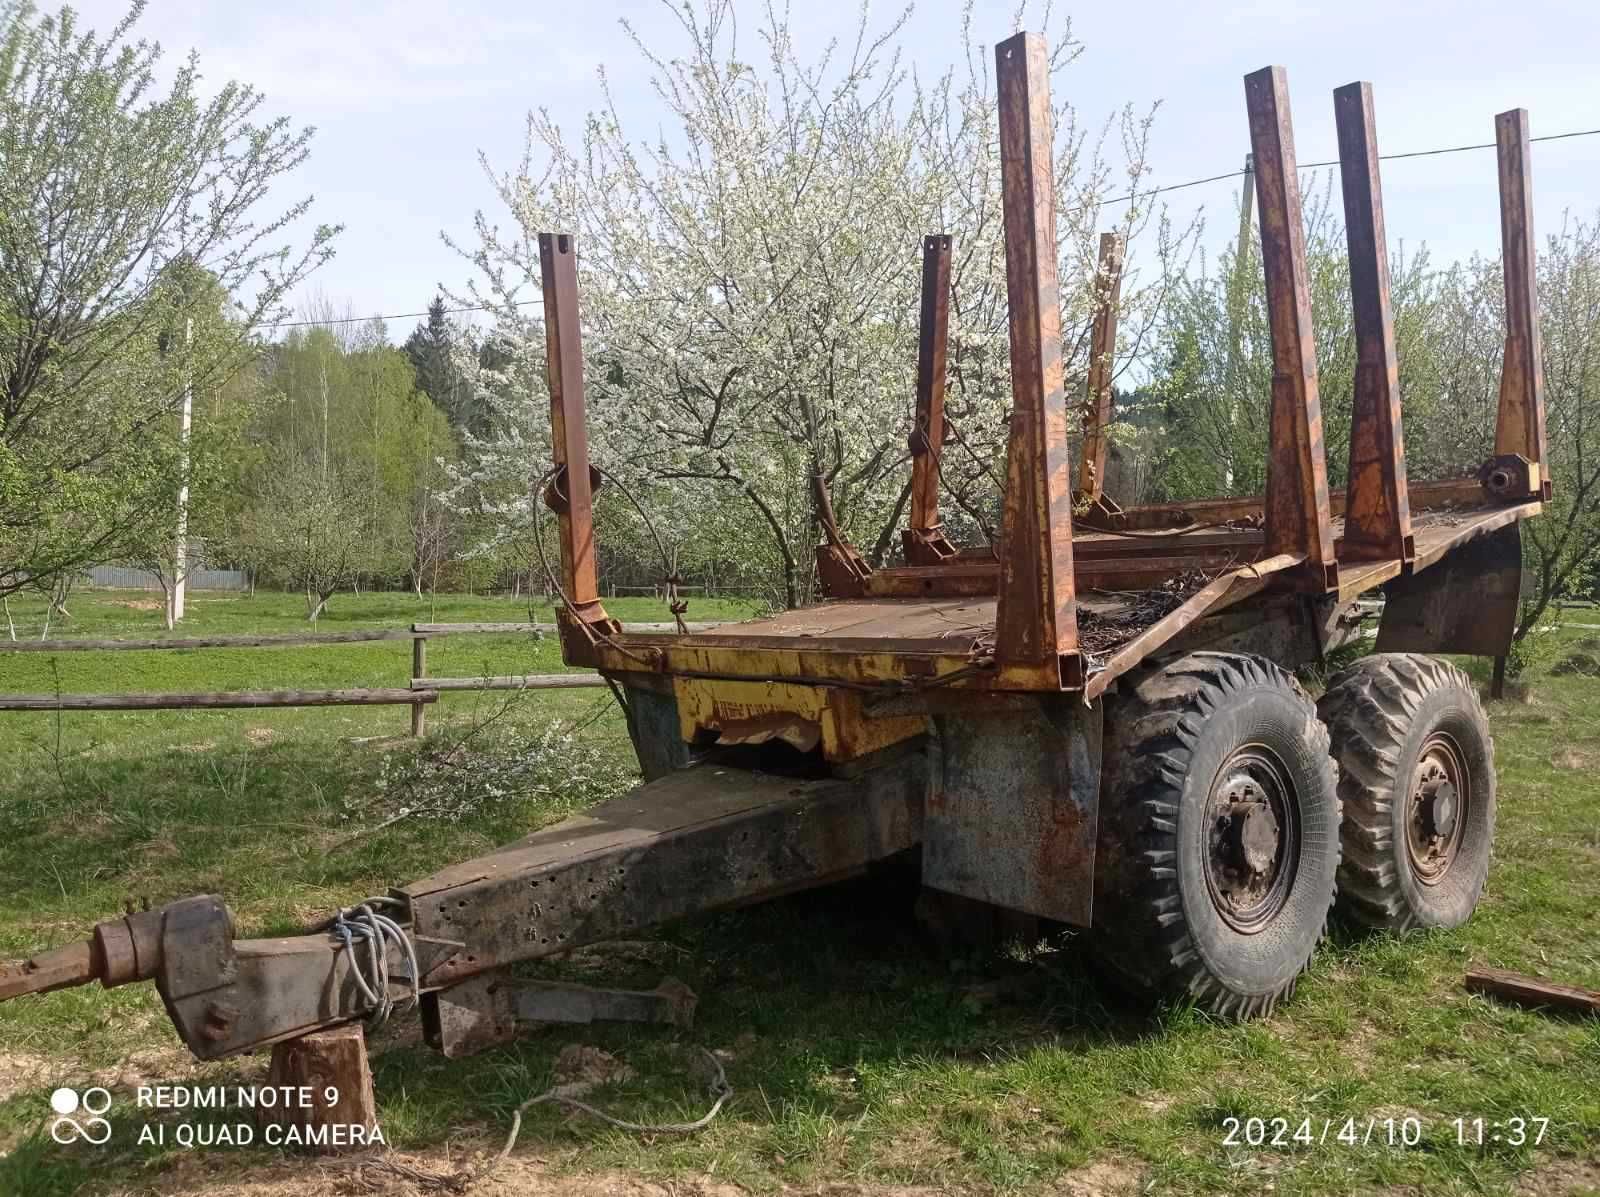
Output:
[[[157,522],[181,454],[184,386],[218,386],[253,331],[331,253],[296,248],[309,200],[270,194],[310,130],[264,118],[261,94],[210,99],[189,56],[165,90],[160,46],[134,40],[142,2],[106,35],[70,8],[0,3],[0,595],[128,554]],[[163,286],[174,264],[230,298]],[[163,354],[194,318],[182,368]],[[181,333],[179,333],[181,334]]]

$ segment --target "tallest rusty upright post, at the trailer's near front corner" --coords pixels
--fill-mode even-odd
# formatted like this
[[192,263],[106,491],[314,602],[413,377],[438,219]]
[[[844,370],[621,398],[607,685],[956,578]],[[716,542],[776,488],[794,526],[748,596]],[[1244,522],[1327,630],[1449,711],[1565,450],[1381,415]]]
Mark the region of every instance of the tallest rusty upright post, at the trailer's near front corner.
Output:
[[1072,459],[1061,360],[1050,54],[1018,34],[995,46],[1011,429],[1000,533],[995,659],[1016,682],[1082,677],[1072,579]]

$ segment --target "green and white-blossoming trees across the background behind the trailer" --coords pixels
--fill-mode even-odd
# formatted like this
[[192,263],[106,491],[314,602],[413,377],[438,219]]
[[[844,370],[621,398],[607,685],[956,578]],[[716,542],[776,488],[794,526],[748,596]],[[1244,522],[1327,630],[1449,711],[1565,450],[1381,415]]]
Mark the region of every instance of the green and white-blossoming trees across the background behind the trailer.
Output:
[[[299,235],[310,200],[274,198],[312,131],[264,117],[246,83],[202,99],[194,58],[155,88],[160,50],[136,40],[139,11],[98,35],[66,10],[0,8],[0,597],[43,590],[64,611],[90,565],[141,565],[171,586],[202,560],[302,592],[312,619],[363,587],[546,589],[533,491],[550,459],[547,229],[581,246],[590,434],[611,475],[597,506],[605,586],[674,574],[774,605],[814,598],[813,478],[869,562],[894,558],[933,230],[955,238],[941,502],[955,539],[994,539],[1010,358],[995,98],[970,26],[947,69],[910,75],[901,21],[862,11],[853,45],[803,59],[768,13],[752,64],[730,0],[683,8],[670,54],[635,43],[672,136],[635,136],[614,110],[576,136],[534,114],[526,158],[490,168],[506,211],[480,213],[456,246],[466,282],[397,346],[334,301],[290,312],[339,232]],[[1069,27],[1046,32],[1075,402],[1099,234],[1130,243],[1107,488],[1123,506],[1259,493],[1272,368],[1258,245],[1197,251],[1198,224],[1147,182],[1155,112],[1086,125],[1059,99],[1082,46]],[[1341,485],[1349,267],[1334,179],[1307,173],[1302,187]],[[1498,256],[1435,262],[1421,248],[1395,254],[1392,277],[1410,474],[1469,474],[1499,389]],[[1539,296],[1557,498],[1528,525],[1523,629],[1587,594],[1600,552],[1600,218],[1544,230]]]

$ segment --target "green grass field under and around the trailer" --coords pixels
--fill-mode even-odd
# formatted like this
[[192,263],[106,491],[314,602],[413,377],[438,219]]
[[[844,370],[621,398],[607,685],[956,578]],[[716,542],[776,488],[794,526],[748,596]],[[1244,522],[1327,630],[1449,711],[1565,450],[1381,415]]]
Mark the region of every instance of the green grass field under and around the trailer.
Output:
[[[158,611],[128,607],[138,598],[80,595],[62,634],[154,634]],[[661,611],[648,600],[611,607],[634,619]],[[186,632],[296,631],[299,610],[293,597],[200,595]],[[18,613],[37,635],[38,613]],[[336,600],[323,627],[525,613],[494,600],[429,611],[363,595]],[[733,613],[696,603],[691,618]],[[435,642],[429,666],[550,672],[560,659],[549,640],[458,637]],[[403,685],[408,672],[405,643],[0,655],[5,691]],[[717,1194],[1600,1191],[1600,1019],[1461,989],[1469,963],[1600,989],[1597,696],[1592,677],[1541,674],[1523,701],[1491,707],[1498,855],[1466,928],[1394,939],[1336,927],[1270,1021],[1128,1008],[1070,935],[1026,952],[941,955],[917,935],[909,891],[859,883],[544,965],[645,987],[670,971],[701,997],[690,1032],[549,1029],[445,1061],[403,1019],[374,1042],[384,1131],[403,1160],[437,1171],[491,1152],[568,1043],[630,1067],[590,1095],[597,1104],[627,1119],[691,1119],[706,1104],[694,1067],[704,1045],[736,1090],[704,1133],[640,1138],[539,1106],[507,1170],[482,1191],[654,1192],[648,1181]],[[405,738],[405,707],[0,717],[0,957],[82,936],[126,896],[216,891],[243,930],[290,930],[629,783],[605,691],[525,696],[504,711],[502,698],[446,696],[421,746]],[[446,763],[429,773],[429,760]],[[483,800],[486,789],[506,794]],[[418,794],[467,810],[354,834]],[[139,1147],[147,1112],[114,1119],[107,1147],[56,1146],[45,1130],[58,1083],[122,1093],[141,1080],[254,1079],[262,1067],[259,1058],[195,1067],[149,986],[3,1005],[0,1194],[363,1191],[326,1165],[262,1149]],[[1376,1119],[1378,1141],[1226,1143],[1227,1119],[1250,1117],[1285,1119],[1291,1136],[1304,1119],[1315,1136],[1325,1120],[1336,1131],[1354,1117],[1365,1135]],[[1406,1117],[1421,1141],[1382,1143],[1384,1120]],[[1538,1147],[1504,1133],[1496,1143],[1493,1127],[1480,1147],[1456,1143],[1458,1117],[1550,1123]]]

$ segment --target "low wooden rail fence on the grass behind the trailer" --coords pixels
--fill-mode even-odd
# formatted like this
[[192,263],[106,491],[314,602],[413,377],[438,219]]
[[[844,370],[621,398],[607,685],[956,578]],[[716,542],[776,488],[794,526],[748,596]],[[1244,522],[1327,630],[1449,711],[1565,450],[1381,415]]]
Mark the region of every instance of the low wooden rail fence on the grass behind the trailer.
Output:
[[[630,632],[672,632],[675,624],[627,624]],[[686,624],[691,632],[714,624]],[[179,635],[142,640],[16,640],[0,642],[5,653],[106,653],[157,651],[179,648],[285,648],[307,645],[350,645],[378,640],[411,642],[411,682],[405,688],[366,690],[221,690],[205,693],[155,695],[5,695],[0,711],[214,711],[230,707],[317,707],[317,706],[408,706],[411,735],[427,730],[427,706],[442,691],[459,690],[566,690],[602,687],[600,674],[514,674],[502,677],[429,677],[427,642],[440,635],[552,635],[555,624],[411,624],[358,632],[294,632],[288,635]]]

